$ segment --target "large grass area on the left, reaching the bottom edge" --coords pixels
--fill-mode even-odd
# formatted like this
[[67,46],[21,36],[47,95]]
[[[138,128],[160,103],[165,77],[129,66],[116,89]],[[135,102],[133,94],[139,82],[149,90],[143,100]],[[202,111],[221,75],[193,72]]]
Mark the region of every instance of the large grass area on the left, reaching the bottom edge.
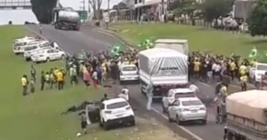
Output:
[[50,68],[64,67],[63,61],[45,64],[34,64],[37,74],[36,93],[22,96],[21,76],[29,75],[32,62],[26,62],[21,55],[12,53],[12,40],[25,36],[27,31],[21,26],[0,26],[0,139],[48,140],[48,139],[166,139],[181,140],[164,126],[138,118],[138,125],[131,128],[120,128],[104,131],[97,124],[89,126],[88,135],[76,137],[80,132],[77,113],[61,115],[68,107],[80,104],[85,100],[99,99],[103,89],[86,89],[84,84],[73,87],[66,79],[64,90],[45,89],[40,91],[40,72]]

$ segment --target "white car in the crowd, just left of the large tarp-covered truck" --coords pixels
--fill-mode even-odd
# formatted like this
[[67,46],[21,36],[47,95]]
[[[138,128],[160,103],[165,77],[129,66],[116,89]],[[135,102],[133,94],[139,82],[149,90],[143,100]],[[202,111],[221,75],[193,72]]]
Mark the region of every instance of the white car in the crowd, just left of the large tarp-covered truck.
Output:
[[120,83],[125,81],[138,81],[139,74],[138,68],[134,64],[122,64],[120,66],[120,75],[119,75]]

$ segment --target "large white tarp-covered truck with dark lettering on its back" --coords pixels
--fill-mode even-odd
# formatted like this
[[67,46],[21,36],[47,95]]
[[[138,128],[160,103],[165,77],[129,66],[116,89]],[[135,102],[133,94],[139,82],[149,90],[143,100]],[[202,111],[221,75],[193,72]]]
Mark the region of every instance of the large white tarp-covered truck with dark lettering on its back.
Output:
[[140,51],[139,79],[142,94],[152,82],[153,98],[166,96],[169,89],[188,85],[188,56],[169,48]]

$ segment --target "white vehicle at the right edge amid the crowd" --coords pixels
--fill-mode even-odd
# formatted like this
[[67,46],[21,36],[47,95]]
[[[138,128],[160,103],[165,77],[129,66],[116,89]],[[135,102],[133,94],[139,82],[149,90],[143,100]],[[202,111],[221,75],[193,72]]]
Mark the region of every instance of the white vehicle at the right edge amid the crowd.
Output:
[[267,72],[267,64],[257,63],[254,67],[249,69],[249,78],[254,82],[261,82],[262,75]]

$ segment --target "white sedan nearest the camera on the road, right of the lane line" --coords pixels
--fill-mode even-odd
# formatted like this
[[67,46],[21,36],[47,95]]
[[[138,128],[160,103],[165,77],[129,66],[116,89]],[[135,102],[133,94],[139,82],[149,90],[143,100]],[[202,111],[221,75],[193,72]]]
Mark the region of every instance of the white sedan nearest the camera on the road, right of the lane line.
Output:
[[197,97],[178,98],[168,107],[168,120],[170,122],[201,121],[207,123],[207,108]]

